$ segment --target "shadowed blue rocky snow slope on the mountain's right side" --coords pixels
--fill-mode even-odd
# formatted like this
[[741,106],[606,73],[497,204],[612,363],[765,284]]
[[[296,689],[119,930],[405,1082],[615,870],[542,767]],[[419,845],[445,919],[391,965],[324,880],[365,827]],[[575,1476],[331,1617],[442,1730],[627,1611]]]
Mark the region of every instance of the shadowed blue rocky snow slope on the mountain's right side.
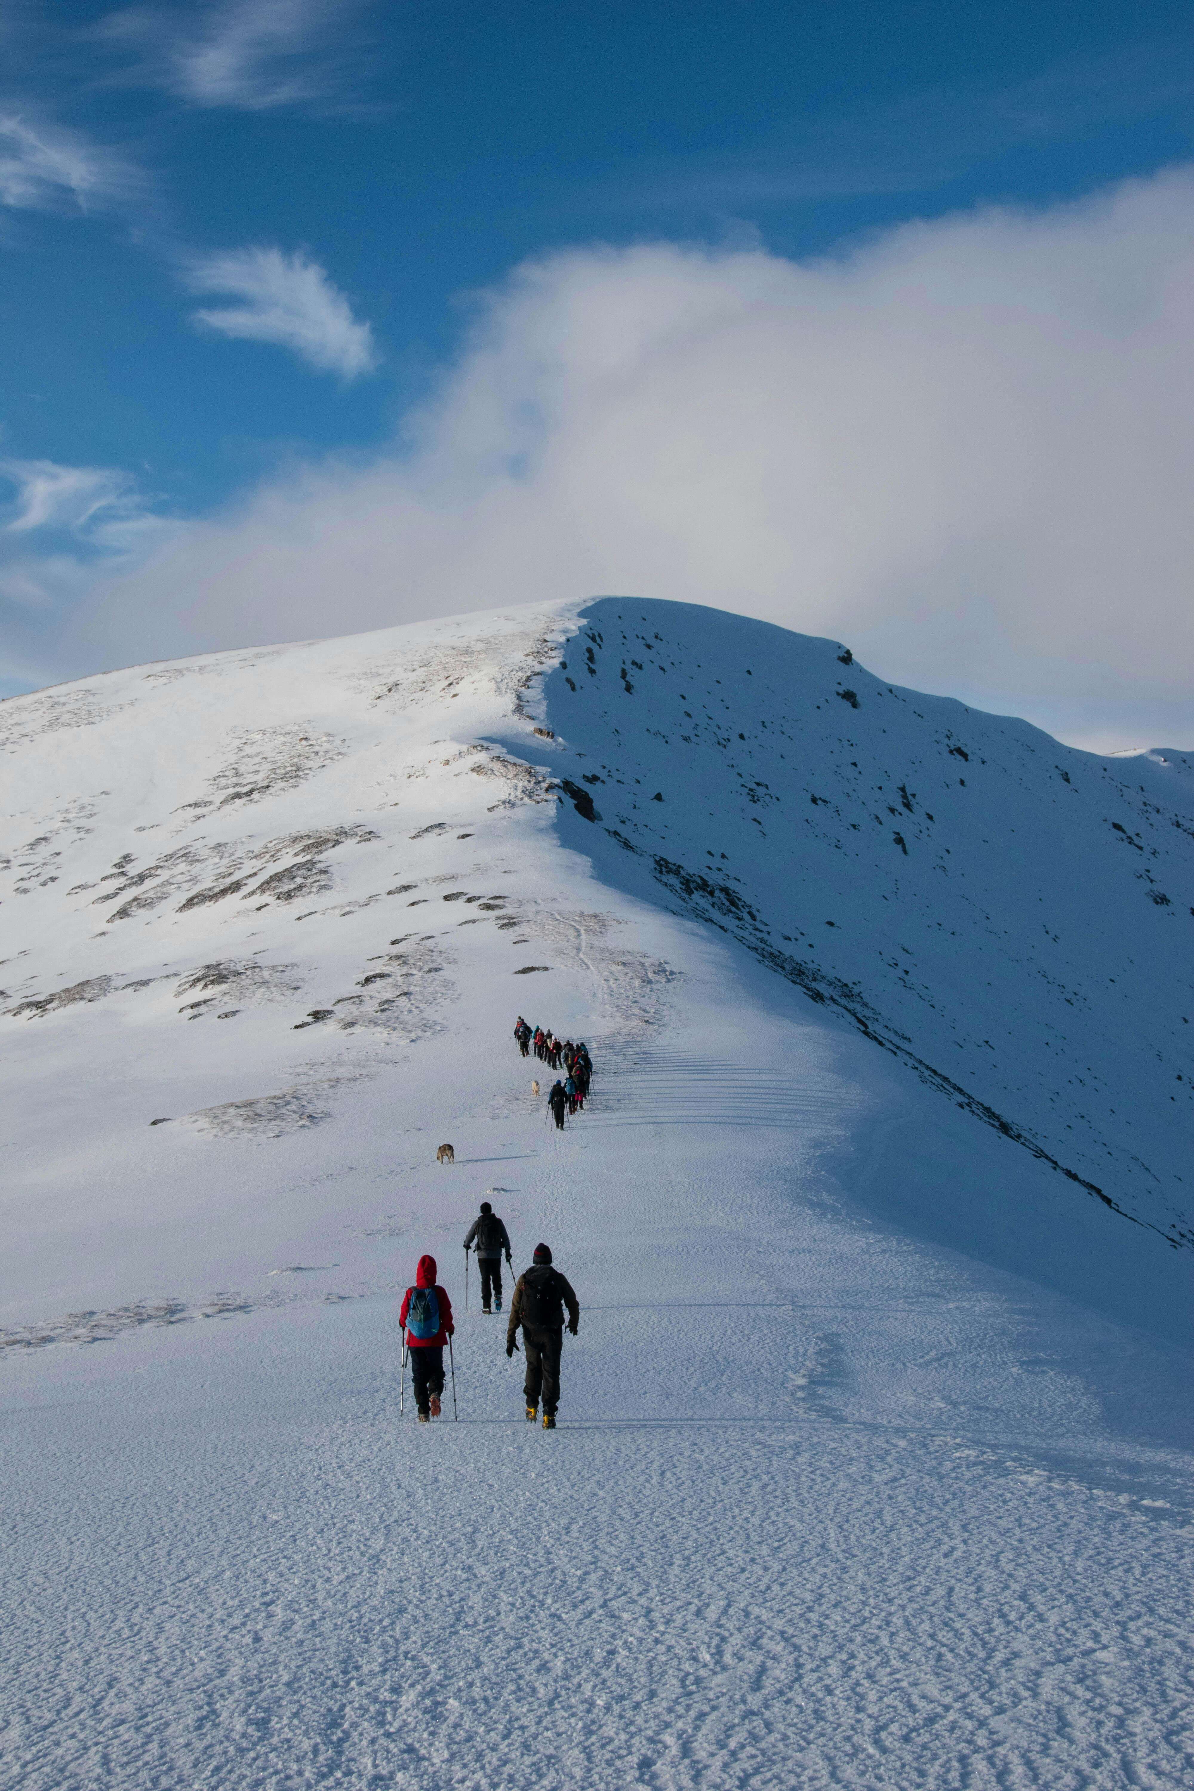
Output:
[[[1101,759],[678,604],[593,605],[544,695],[551,768],[621,847],[603,878],[720,926],[1124,1218],[1110,1277],[1083,1245],[1053,1273],[1194,1341],[1189,754]],[[1001,1261],[1045,1250],[1035,1227]]]

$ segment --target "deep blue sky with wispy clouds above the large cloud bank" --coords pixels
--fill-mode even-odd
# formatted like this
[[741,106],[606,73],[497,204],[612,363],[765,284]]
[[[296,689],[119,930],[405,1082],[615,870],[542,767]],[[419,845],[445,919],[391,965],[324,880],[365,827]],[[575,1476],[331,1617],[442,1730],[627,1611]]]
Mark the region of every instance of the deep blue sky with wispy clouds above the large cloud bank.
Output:
[[7,690],[107,663],[63,645],[95,578],[408,441],[535,258],[809,265],[1147,181],[1194,129],[1190,11],[1139,0],[9,0],[0,66]]

